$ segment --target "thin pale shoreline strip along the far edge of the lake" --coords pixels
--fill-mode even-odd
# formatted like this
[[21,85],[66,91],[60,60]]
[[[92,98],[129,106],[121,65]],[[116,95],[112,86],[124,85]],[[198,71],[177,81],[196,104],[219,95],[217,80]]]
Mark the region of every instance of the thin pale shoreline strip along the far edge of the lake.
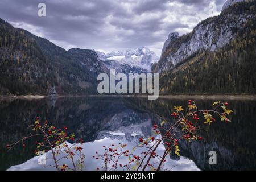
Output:
[[[43,98],[51,98],[51,96],[43,96],[43,95],[2,95],[0,96],[0,100],[14,100],[14,99],[25,99],[25,100],[34,100],[34,99],[43,99]],[[68,95],[68,96],[55,96],[52,98],[64,98],[64,97],[148,97],[148,95]],[[196,100],[256,100],[255,94],[172,94],[172,95],[160,95],[159,98],[163,99],[196,99]],[[158,99],[159,99],[158,98]]]

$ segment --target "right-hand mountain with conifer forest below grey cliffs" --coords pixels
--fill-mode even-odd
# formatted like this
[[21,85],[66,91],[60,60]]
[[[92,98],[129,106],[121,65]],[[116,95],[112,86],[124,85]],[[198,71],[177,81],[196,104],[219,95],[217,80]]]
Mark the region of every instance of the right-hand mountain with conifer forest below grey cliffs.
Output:
[[[198,26],[190,34],[170,43],[154,67],[155,72],[160,72],[160,93],[256,93],[256,1],[236,3],[219,16],[204,20],[199,26],[208,27],[208,30],[215,28],[214,31],[220,33],[224,30],[210,26],[225,22],[226,31],[231,31],[232,36],[229,33],[230,41],[222,43],[220,48],[212,42],[209,47],[191,54],[183,52],[185,58],[175,63],[168,61],[174,59],[181,45],[191,44],[191,37]],[[224,34],[226,32],[221,36]],[[220,36],[216,37],[218,42],[217,39]]]

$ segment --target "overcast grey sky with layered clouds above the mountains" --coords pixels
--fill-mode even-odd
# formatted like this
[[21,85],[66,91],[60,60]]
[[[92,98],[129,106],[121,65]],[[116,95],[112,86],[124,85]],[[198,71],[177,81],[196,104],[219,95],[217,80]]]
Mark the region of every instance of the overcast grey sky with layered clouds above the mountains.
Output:
[[[38,4],[46,3],[46,17]],[[212,6],[216,4],[216,11]],[[104,52],[146,46],[159,56],[170,32],[183,35],[225,0],[1,0],[0,18],[65,49]],[[210,13],[209,13],[210,11]]]

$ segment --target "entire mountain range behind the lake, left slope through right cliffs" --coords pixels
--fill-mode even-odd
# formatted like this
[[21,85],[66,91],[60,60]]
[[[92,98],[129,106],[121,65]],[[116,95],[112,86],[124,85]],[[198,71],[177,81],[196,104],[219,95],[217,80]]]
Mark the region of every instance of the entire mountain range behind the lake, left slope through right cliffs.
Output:
[[170,33],[159,59],[146,47],[65,51],[0,19],[0,95],[96,94],[97,75],[112,68],[160,73],[161,94],[256,93],[255,22],[255,1],[229,0],[192,32]]

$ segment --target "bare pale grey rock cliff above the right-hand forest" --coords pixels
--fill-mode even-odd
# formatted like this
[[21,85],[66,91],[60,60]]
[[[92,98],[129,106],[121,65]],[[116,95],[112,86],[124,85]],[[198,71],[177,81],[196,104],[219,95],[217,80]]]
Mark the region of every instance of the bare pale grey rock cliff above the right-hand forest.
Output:
[[245,22],[255,17],[254,13],[248,14],[242,9],[238,12],[229,10],[233,4],[234,1],[228,1],[224,6],[225,11],[219,16],[204,20],[187,35],[177,38],[177,34],[170,34],[171,38],[174,38],[172,41],[168,38],[168,46],[164,45],[162,56],[154,71],[160,73],[170,70],[200,51],[216,51],[230,43]]

